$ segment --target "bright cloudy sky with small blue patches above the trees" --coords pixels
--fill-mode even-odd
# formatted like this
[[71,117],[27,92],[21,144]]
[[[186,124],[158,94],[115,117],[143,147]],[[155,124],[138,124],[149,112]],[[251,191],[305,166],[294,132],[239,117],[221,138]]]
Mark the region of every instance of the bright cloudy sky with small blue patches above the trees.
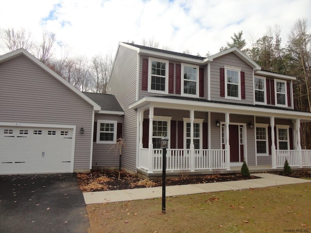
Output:
[[[311,32],[311,0],[5,0],[0,29],[25,28],[40,40],[56,34],[71,56],[116,52],[119,42],[158,42],[158,48],[202,56],[217,53],[233,33],[248,45],[279,25],[284,43],[298,18]],[[3,54],[3,51],[0,51]]]

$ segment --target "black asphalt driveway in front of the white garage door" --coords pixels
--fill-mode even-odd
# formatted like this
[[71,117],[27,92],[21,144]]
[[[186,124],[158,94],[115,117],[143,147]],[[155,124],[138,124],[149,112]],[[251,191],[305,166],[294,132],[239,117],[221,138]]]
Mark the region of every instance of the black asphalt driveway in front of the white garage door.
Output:
[[88,233],[75,173],[1,175],[1,233]]

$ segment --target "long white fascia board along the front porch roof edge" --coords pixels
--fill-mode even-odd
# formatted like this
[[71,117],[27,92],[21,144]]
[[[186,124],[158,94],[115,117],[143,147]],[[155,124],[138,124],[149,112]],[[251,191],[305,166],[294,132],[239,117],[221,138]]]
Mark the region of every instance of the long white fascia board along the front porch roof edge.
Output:
[[275,116],[278,118],[292,118],[292,119],[299,118],[302,120],[311,121],[311,113],[295,112],[286,109],[280,110],[273,108],[230,105],[230,104],[204,102],[204,101],[161,99],[157,97],[144,97],[138,100],[137,102],[131,104],[129,106],[129,109],[137,109],[138,107],[141,108],[150,105],[156,108],[166,108],[166,109],[180,109],[180,110],[193,109],[194,111],[202,111],[202,112],[218,112],[218,113],[263,116],[263,117]]

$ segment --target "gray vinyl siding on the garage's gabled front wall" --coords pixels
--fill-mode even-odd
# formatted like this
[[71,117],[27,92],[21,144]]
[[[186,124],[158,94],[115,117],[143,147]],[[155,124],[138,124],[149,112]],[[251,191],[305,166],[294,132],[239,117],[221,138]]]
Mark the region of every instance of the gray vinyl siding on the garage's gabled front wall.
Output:
[[90,104],[23,55],[0,64],[0,83],[0,121],[76,125],[74,169],[89,169]]

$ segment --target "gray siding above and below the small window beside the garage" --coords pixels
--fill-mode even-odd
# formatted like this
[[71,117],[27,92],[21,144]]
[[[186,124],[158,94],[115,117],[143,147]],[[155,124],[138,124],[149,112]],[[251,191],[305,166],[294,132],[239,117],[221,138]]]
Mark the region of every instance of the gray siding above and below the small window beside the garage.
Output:
[[[114,120],[123,123],[123,116],[95,114],[94,121]],[[93,167],[115,167],[119,166],[119,151],[115,150],[114,144],[97,144],[93,142]]]

